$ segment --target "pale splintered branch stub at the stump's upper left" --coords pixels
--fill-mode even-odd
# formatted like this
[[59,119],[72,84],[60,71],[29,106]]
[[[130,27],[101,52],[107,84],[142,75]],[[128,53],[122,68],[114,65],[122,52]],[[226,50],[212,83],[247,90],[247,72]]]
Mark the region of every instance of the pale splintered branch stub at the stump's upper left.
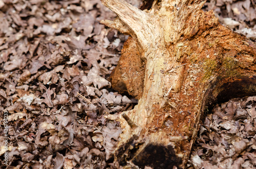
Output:
[[154,33],[152,23],[148,22],[151,19],[150,16],[123,0],[106,0],[101,2],[104,6],[115,12],[118,18],[114,22],[102,20],[100,23],[117,29],[120,32],[135,35],[142,50],[147,50]]

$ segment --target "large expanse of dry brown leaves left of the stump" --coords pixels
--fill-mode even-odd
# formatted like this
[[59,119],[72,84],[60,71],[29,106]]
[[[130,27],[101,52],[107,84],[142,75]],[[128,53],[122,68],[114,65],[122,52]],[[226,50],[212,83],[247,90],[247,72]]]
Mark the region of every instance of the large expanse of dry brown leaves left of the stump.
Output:
[[[110,168],[121,128],[106,119],[135,105],[106,80],[127,36],[98,20],[99,0],[0,1],[0,110],[16,168]],[[2,118],[3,119],[3,118]]]

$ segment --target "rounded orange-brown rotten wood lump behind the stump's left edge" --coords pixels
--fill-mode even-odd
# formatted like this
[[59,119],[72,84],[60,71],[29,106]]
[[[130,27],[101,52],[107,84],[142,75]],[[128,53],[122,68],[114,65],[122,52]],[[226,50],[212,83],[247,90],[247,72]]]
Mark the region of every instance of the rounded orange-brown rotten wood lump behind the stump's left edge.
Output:
[[144,74],[145,62],[141,58],[138,44],[129,37],[124,43],[119,63],[110,76],[112,87],[120,93],[128,92],[136,99],[141,98]]

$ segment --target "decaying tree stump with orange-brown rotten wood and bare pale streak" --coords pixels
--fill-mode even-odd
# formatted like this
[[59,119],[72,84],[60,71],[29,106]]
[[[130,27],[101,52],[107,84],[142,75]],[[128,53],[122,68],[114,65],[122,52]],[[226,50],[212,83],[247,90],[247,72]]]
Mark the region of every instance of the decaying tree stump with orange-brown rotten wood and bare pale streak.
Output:
[[256,94],[255,43],[221,26],[214,12],[203,12],[201,1],[163,0],[144,11],[123,0],[101,1],[118,15],[101,23],[133,37],[112,84],[139,99],[123,113],[128,123],[119,117],[115,159],[184,168],[205,109]]

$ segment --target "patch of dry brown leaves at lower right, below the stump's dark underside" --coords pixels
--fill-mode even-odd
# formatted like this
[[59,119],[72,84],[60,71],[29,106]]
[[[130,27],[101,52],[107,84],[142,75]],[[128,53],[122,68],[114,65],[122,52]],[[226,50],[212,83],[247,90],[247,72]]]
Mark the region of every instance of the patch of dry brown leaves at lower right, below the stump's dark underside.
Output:
[[207,114],[191,155],[194,168],[256,167],[256,96],[232,99]]

